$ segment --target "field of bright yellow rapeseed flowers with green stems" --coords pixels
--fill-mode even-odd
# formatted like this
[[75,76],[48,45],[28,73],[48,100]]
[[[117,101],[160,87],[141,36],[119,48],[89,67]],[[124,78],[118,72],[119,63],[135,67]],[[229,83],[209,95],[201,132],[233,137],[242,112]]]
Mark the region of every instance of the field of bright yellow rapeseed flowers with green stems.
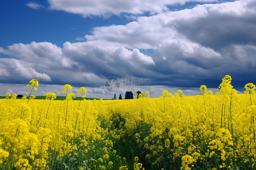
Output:
[[[33,100],[6,93],[0,100],[0,169],[168,170],[255,169],[256,93],[237,94],[226,75],[216,95],[184,96],[164,90],[160,98],[64,101],[46,93]],[[86,88],[77,95],[85,97]]]

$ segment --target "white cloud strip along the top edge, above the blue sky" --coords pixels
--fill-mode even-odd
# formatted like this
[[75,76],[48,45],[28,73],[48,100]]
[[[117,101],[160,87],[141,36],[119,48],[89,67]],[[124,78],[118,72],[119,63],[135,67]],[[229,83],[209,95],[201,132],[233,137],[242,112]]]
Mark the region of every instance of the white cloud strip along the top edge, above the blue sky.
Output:
[[[216,0],[200,0],[200,2],[214,1]],[[168,11],[168,5],[184,5],[186,2],[196,2],[196,0],[48,0],[48,2],[50,3],[50,9],[63,10],[87,17],[90,15],[120,15],[121,13],[138,15],[149,12],[151,14],[156,14]]]

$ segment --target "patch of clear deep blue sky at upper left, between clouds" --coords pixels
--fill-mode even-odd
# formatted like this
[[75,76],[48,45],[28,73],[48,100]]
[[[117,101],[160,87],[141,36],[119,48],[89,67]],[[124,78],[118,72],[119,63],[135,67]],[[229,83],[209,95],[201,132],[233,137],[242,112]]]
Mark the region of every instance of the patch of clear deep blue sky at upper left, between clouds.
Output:
[[[1,47],[14,43],[29,44],[35,42],[51,42],[59,47],[63,43],[78,42],[78,35],[90,34],[93,27],[126,24],[121,17],[111,18],[87,17],[64,11],[48,9],[47,1],[39,1],[41,7],[33,9],[26,4],[31,1],[3,1],[1,6]],[[35,2],[34,2],[35,3]]]

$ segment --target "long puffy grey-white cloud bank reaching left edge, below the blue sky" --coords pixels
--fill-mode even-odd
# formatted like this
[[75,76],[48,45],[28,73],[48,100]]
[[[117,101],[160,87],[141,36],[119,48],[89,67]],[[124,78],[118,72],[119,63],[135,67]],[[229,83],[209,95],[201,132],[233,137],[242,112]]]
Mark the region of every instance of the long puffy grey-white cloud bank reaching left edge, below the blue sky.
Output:
[[0,78],[8,77],[12,82],[36,78],[61,84],[76,82],[99,86],[110,73],[124,76],[124,73],[139,70],[143,65],[155,64],[150,56],[138,49],[98,46],[101,47],[100,44],[89,47],[86,42],[65,42],[63,48],[49,42],[14,44],[4,51],[17,58],[0,58],[3,65]]

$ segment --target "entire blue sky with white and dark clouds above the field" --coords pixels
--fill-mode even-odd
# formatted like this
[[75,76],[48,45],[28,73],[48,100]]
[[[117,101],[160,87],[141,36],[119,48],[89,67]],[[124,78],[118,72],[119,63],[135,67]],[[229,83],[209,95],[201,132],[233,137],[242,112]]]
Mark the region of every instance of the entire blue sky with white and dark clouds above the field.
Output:
[[256,84],[255,0],[10,0],[0,15],[0,96],[26,93],[32,78],[36,95],[70,84],[97,98],[113,97],[109,77],[123,97],[127,88],[216,92],[226,74],[239,93]]

